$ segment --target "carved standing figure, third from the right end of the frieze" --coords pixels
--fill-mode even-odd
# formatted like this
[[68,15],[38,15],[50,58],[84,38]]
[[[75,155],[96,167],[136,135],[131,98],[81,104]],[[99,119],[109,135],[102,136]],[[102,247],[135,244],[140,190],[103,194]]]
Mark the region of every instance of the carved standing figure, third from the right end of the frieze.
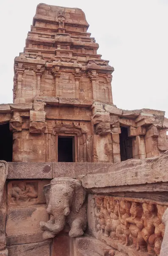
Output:
[[129,232],[126,233],[126,245],[129,243],[129,234],[133,238],[133,245],[136,247],[136,250],[145,251],[146,250],[146,242],[142,236],[143,230],[143,208],[140,203],[132,202],[132,206],[130,208],[131,217],[126,218],[125,226],[129,229]]

